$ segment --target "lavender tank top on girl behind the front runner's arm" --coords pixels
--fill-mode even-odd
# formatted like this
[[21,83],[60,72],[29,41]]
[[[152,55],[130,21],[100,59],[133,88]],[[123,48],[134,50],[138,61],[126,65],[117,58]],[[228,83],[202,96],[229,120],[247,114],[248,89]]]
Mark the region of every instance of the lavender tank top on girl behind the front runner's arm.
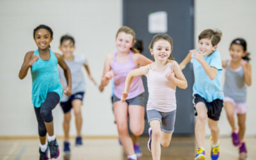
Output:
[[[139,68],[140,66],[136,65],[132,61],[132,54],[133,54],[132,51],[129,52],[129,61],[125,63],[119,63],[118,61],[116,61],[116,53],[117,51],[114,53],[114,60],[111,65],[111,68],[114,73],[117,73],[116,76],[114,77],[114,82],[115,82],[114,94],[116,97],[118,97],[118,99],[121,99],[122,93],[124,92],[125,79],[128,73],[131,70]],[[134,77],[128,92],[127,99],[133,99],[134,97],[137,97],[143,92],[145,92],[145,90],[144,90],[141,76]]]

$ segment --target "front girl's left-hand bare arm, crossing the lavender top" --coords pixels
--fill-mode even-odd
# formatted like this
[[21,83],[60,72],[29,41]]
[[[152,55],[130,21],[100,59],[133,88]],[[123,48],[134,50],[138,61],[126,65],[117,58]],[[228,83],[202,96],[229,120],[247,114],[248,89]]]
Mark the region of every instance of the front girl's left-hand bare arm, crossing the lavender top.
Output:
[[129,88],[131,86],[133,78],[137,77],[137,76],[147,75],[148,70],[149,70],[148,66],[143,66],[143,67],[140,67],[138,69],[131,70],[129,72],[129,74],[127,75],[127,77],[125,79],[124,92],[122,93],[121,102],[124,102],[125,99],[127,98]]

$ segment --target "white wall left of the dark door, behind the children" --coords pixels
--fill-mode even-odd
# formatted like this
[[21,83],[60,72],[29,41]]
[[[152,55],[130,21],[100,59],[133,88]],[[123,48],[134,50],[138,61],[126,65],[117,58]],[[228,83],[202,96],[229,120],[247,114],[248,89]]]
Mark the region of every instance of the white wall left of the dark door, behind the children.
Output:
[[[22,81],[18,74],[24,55],[36,49],[33,29],[46,24],[54,31],[52,51],[60,52],[60,37],[76,39],[76,53],[88,58],[92,75],[100,82],[104,58],[115,50],[115,33],[122,25],[120,0],[1,0],[0,1],[0,136],[37,135],[37,122],[31,104],[31,75]],[[116,135],[111,109],[111,86],[98,92],[87,79],[83,105],[84,135]],[[63,135],[63,113],[53,111],[57,135]],[[71,134],[75,134],[74,118]]]

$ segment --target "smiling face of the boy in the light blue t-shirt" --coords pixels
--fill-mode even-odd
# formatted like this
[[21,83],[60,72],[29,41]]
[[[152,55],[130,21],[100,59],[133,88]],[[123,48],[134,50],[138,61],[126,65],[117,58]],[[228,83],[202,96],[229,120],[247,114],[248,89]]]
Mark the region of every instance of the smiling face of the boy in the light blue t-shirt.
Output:
[[210,38],[202,38],[198,42],[198,52],[203,56],[209,56],[212,52],[217,49],[217,45],[212,46]]

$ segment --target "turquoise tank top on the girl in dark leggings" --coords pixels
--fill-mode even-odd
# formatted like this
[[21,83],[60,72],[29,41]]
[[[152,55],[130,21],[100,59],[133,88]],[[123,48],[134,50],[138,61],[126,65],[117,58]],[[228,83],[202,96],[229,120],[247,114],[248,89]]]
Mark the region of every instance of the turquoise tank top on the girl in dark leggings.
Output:
[[34,54],[39,59],[31,66],[32,102],[36,108],[40,108],[46,99],[47,93],[56,92],[61,100],[63,88],[58,76],[58,60],[54,52],[50,51],[51,58],[46,61],[40,58],[38,50]]

